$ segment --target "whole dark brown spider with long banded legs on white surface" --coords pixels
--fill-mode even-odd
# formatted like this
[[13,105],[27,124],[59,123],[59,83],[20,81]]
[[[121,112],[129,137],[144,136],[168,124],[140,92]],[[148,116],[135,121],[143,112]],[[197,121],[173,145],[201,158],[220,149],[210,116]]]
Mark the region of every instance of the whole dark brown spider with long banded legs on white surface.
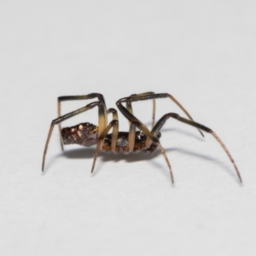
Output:
[[[83,108],[79,108],[73,112],[64,114],[61,116],[61,102],[65,101],[74,101],[74,100],[88,100],[96,98],[96,102],[91,102]],[[154,124],[154,113],[155,113],[155,99],[158,98],[169,98],[172,102],[175,102],[179,108],[183,110],[188,117],[188,119],[184,119],[179,116],[177,113],[166,113],[163,115],[160,120]],[[135,117],[133,114],[131,102],[145,101],[145,100],[153,100],[153,121],[152,121],[152,130],[149,131],[146,125]],[[125,103],[126,106],[123,104]],[[235,167],[236,174],[241,182],[241,175],[236,167],[235,160],[233,160],[229,150],[226,148],[224,143],[220,140],[220,138],[216,135],[214,131],[210,128],[207,128],[204,125],[196,123],[192,117],[189,115],[187,110],[183,108],[183,106],[177,102],[177,100],[168,93],[154,93],[154,92],[145,92],[141,94],[132,94],[131,96],[124,97],[119,99],[116,102],[119,111],[123,113],[126,119],[128,119],[130,124],[129,132],[119,131],[119,119],[117,110],[114,108],[109,108],[107,110],[104,97],[99,93],[91,93],[84,96],[60,96],[58,97],[58,118],[52,120],[51,125],[49,127],[48,137],[44,147],[43,154],[43,163],[42,163],[42,172],[44,172],[44,162],[45,156],[47,153],[47,148],[49,145],[49,139],[51,137],[52,131],[55,125],[59,125],[59,130],[61,134],[61,149],[63,150],[63,144],[79,144],[84,147],[90,147],[91,145],[96,145],[96,151],[94,154],[94,160],[91,168],[91,173],[94,170],[96,164],[96,158],[99,151],[108,152],[112,151],[114,154],[119,152],[123,152],[124,154],[132,153],[140,153],[140,152],[149,152],[152,153],[156,148],[160,148],[161,154],[163,154],[167,166],[169,167],[169,172],[171,175],[172,183],[174,183],[172,167],[170,162],[166,156],[166,152],[164,148],[162,148],[160,144],[160,130],[165,125],[166,120],[169,118],[177,119],[178,121],[192,125],[201,133],[201,136],[204,137],[202,131],[206,131],[211,133],[213,137],[217,140],[217,142],[224,149],[225,153],[229,156],[230,161]],[[61,122],[70,119],[73,116],[83,113],[92,108],[98,107],[99,119],[98,125],[93,125],[88,122],[81,123],[79,125],[74,125],[72,127],[61,128]],[[112,113],[112,121],[108,124],[108,113]],[[108,131],[113,129],[111,134],[108,134]],[[138,131],[136,131],[138,130]]]

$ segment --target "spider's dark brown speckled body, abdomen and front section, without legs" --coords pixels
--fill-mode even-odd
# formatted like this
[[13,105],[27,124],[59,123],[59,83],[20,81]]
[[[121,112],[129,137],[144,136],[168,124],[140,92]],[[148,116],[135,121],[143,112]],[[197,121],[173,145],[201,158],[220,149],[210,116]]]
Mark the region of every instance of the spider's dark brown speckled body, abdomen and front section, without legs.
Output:
[[[82,123],[74,125],[72,127],[65,127],[61,129],[61,138],[64,145],[78,144],[84,147],[90,147],[96,145],[98,137],[98,126],[90,123]],[[143,131],[136,131],[135,144],[132,153],[149,152],[152,153],[157,144],[152,143],[149,148],[145,148],[147,136]],[[157,135],[160,139],[160,132]],[[105,137],[104,144],[102,146],[103,152],[112,151],[112,133]],[[115,145],[115,152],[123,152],[129,154],[129,132],[119,131],[117,143]]]

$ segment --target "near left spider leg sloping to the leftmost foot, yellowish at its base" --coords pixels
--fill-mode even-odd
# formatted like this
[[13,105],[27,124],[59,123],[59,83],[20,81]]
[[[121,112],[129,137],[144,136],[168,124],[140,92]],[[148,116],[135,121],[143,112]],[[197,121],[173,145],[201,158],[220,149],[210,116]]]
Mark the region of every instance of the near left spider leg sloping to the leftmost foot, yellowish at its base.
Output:
[[104,102],[91,102],[90,104],[86,105],[83,108],[79,108],[79,109],[77,109],[73,112],[66,113],[66,114],[62,115],[61,117],[58,117],[57,119],[52,120],[51,125],[49,126],[48,137],[47,137],[47,140],[46,140],[46,143],[45,143],[45,146],[44,146],[42,172],[44,172],[45,156],[46,156],[46,153],[47,153],[47,148],[48,148],[48,145],[49,145],[49,139],[51,137],[54,126],[59,125],[64,120],[70,119],[70,118],[72,118],[73,116],[75,116],[79,113],[83,113],[83,112],[85,112],[85,111],[87,111],[91,108],[95,108],[96,106],[99,108],[99,133],[98,134],[100,135],[101,134],[100,130],[101,130],[101,132],[105,130],[105,120],[107,119],[107,117],[105,116]]

